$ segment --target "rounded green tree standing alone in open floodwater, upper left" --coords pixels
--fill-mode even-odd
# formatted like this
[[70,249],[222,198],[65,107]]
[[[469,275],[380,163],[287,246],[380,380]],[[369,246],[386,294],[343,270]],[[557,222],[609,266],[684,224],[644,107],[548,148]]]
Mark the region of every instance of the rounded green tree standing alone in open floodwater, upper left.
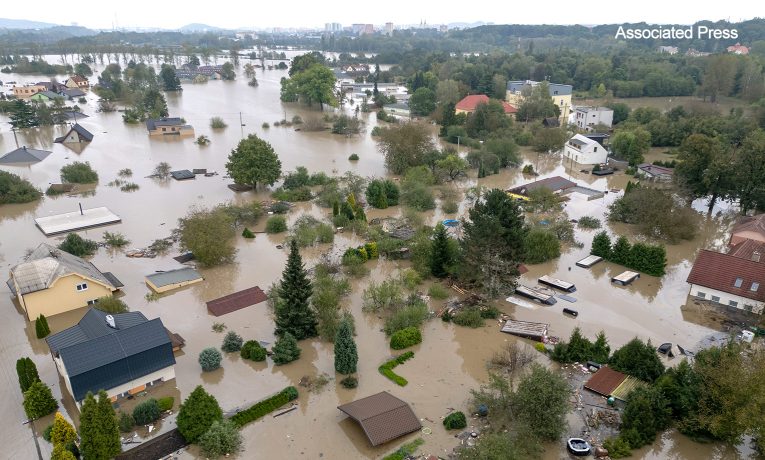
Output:
[[282,162],[271,144],[250,134],[231,151],[226,171],[237,184],[273,185],[282,174]]

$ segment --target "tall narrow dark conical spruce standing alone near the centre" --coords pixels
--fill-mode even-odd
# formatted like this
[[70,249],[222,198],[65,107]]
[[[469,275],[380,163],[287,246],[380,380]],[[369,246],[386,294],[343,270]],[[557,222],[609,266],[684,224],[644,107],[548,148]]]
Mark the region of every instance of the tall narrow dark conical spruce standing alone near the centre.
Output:
[[297,242],[293,239],[276,302],[276,335],[289,332],[297,340],[316,337],[318,321],[308,303],[312,293],[311,281],[303,267]]

